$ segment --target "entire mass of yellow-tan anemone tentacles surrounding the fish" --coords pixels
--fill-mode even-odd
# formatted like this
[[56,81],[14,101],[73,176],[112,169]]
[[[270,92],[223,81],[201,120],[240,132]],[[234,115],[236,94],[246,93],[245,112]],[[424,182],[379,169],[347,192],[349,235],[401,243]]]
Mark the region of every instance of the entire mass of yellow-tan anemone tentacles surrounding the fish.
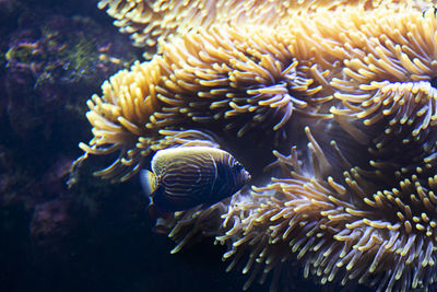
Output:
[[272,273],[275,290],[294,262],[321,283],[399,291],[437,280],[432,1],[101,8],[152,47],[151,59],[88,101],[94,138],[80,144],[78,164],[118,152],[96,175],[120,182],[158,149],[205,144],[253,176],[250,191],[160,219],[174,252],[214,236],[228,247],[229,269],[246,260],[245,288]]

